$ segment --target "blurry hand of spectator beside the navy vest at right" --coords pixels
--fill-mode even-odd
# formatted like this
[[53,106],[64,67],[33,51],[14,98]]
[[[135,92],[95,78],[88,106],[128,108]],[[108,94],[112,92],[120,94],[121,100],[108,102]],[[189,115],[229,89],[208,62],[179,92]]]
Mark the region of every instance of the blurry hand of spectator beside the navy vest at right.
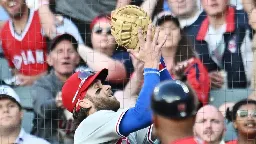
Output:
[[224,78],[221,75],[221,72],[213,71],[209,73],[211,79],[211,88],[218,89],[221,88],[224,84]]

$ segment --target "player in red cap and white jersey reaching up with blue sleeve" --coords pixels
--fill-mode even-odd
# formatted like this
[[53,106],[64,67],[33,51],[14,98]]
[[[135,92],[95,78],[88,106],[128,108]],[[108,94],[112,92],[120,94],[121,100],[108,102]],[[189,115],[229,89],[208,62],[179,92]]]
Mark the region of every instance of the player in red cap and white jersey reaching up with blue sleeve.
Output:
[[160,82],[159,60],[166,41],[165,38],[157,44],[158,35],[159,28],[152,40],[152,26],[149,25],[144,41],[140,30],[140,50],[137,53],[131,51],[144,62],[144,84],[133,108],[119,110],[120,103],[113,96],[111,87],[103,84],[107,69],[97,73],[77,72],[66,81],[62,101],[73,113],[77,124],[75,144],[146,142],[147,127],[152,123],[150,99],[154,87]]

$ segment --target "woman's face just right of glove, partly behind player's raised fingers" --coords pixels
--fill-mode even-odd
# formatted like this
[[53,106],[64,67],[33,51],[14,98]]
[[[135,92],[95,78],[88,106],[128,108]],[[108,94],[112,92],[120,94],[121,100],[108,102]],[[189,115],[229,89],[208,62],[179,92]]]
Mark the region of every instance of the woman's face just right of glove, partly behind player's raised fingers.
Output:
[[181,39],[180,28],[177,27],[173,22],[166,21],[160,26],[161,30],[158,37],[158,42],[167,35],[167,40],[164,44],[165,48],[177,47]]

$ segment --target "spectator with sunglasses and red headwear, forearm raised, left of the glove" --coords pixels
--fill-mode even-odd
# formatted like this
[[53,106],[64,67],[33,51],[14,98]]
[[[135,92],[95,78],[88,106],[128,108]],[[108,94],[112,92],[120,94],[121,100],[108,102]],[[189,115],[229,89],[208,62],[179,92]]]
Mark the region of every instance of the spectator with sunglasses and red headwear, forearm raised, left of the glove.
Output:
[[95,17],[90,24],[90,36],[86,37],[88,47],[80,45],[78,51],[92,70],[99,71],[103,68],[109,70],[107,81],[115,91],[124,88],[134,68],[129,53],[117,49],[110,26],[108,14]]

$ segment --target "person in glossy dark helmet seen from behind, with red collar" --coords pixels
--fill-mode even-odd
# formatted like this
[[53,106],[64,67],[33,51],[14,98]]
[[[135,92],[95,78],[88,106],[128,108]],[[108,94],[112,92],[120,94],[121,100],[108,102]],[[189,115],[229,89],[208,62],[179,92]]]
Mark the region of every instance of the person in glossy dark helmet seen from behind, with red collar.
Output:
[[182,81],[168,80],[157,85],[151,101],[156,143],[197,144],[193,125],[198,104],[194,91]]

